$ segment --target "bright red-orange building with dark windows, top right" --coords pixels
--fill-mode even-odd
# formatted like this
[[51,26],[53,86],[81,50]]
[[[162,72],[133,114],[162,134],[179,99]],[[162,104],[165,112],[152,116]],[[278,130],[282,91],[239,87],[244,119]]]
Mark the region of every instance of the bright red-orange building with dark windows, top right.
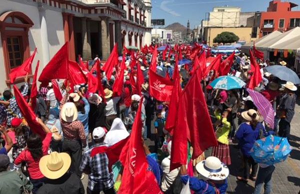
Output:
[[261,12],[259,37],[275,30],[287,31],[300,26],[300,11],[291,10],[296,6],[298,5],[287,1],[270,1],[267,10]]

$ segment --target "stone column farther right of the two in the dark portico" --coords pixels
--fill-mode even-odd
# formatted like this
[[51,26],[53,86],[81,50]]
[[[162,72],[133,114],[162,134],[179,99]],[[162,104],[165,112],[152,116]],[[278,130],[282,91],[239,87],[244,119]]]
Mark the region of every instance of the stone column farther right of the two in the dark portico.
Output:
[[101,17],[102,58],[107,59],[110,54],[109,22],[108,17]]

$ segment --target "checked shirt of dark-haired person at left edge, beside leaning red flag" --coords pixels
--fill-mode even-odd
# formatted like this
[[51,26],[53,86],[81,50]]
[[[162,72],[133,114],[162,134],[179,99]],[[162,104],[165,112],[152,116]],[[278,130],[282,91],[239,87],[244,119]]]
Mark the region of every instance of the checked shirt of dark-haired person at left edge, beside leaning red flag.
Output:
[[[21,91],[21,94],[23,96],[25,96],[25,95],[27,95],[27,93],[28,93],[28,83],[25,83],[24,88]],[[21,114],[19,107],[17,106],[16,100],[14,97],[10,98],[8,101],[9,101],[9,105],[6,108],[6,116],[7,116],[6,124],[10,125],[12,118],[14,118],[14,117],[21,118],[22,114]]]

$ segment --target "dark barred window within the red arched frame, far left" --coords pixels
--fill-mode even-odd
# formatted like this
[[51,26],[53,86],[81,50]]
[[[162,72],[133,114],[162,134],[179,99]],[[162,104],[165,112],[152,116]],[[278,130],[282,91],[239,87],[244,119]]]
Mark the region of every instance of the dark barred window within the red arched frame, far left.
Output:
[[22,44],[20,36],[7,37],[7,49],[10,68],[17,67],[22,64]]

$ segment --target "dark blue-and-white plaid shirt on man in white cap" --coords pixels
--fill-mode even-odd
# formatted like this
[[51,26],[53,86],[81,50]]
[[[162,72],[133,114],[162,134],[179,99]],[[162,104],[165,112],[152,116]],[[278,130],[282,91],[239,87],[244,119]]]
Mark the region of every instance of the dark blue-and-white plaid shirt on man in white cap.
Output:
[[[103,143],[96,144],[93,147],[99,145],[103,145]],[[91,157],[90,152],[93,147],[82,155],[79,169],[81,172],[86,168],[90,169],[87,183],[87,187],[90,190],[101,191],[109,189],[113,186],[113,174],[109,173],[108,170],[108,157],[106,153],[99,153]]]

